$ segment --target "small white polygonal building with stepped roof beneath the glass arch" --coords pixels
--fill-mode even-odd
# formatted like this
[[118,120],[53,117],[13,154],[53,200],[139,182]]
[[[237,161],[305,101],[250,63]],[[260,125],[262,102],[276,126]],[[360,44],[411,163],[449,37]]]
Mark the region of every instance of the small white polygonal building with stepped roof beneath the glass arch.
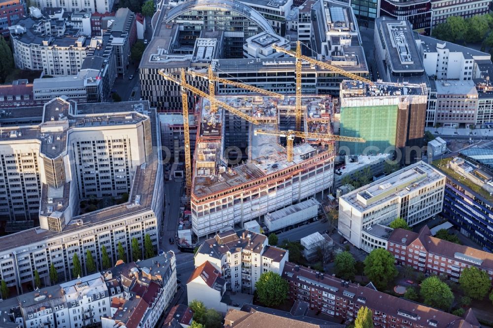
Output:
[[278,52],[272,48],[275,44],[284,49],[290,50],[289,41],[283,37],[262,32],[253,35],[245,40],[243,45],[243,57],[245,58],[279,58],[284,57],[284,53]]

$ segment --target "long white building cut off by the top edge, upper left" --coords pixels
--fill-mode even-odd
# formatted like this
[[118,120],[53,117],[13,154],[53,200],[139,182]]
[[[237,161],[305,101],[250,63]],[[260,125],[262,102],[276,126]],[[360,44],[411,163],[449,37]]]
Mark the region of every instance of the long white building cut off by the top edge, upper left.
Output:
[[114,0],[34,0],[33,3],[38,8],[64,8],[66,11],[89,13],[111,12]]

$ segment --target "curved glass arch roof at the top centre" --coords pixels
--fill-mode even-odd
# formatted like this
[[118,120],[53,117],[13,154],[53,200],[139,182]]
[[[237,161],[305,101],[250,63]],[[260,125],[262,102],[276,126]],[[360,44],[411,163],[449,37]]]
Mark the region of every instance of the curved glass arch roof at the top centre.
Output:
[[168,16],[166,17],[166,22],[170,22],[175,19],[179,15],[190,11],[192,9],[201,9],[205,8],[206,10],[211,10],[211,8],[222,8],[225,10],[234,11],[249,20],[255,22],[260,26],[260,28],[264,31],[274,33],[271,25],[264,16],[260,15],[260,13],[244,3],[235,1],[235,0],[189,0],[185,1],[176,7],[172,8],[168,12]]

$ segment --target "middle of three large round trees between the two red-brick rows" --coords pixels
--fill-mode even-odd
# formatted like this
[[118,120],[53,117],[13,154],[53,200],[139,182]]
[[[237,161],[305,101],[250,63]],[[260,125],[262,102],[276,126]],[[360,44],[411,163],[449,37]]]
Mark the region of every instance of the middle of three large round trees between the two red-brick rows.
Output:
[[440,281],[437,276],[426,278],[421,283],[421,296],[426,305],[439,307],[443,310],[450,308],[454,301],[454,294],[446,283]]

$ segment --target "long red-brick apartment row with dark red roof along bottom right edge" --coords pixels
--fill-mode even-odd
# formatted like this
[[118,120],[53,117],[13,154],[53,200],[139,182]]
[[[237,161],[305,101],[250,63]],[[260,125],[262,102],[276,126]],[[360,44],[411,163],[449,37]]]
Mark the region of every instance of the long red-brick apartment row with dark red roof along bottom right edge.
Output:
[[458,317],[291,262],[284,266],[282,277],[289,283],[291,300],[308,302],[311,309],[344,324],[353,323],[360,307],[366,306],[372,311],[374,327],[480,327],[471,309]]

